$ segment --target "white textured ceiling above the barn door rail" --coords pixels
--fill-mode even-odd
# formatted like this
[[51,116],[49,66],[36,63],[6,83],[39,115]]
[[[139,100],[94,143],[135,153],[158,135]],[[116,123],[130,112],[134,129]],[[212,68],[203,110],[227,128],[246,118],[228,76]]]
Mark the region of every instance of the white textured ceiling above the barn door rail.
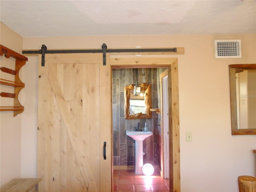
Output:
[[0,0],[23,37],[255,34],[256,0]]

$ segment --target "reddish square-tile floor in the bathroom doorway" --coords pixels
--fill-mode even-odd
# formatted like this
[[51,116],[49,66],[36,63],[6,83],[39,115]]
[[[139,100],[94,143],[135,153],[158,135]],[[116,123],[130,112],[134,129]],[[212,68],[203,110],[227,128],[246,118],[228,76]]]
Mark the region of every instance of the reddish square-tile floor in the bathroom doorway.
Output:
[[169,180],[159,173],[152,176],[136,175],[127,170],[114,170],[114,192],[169,192]]

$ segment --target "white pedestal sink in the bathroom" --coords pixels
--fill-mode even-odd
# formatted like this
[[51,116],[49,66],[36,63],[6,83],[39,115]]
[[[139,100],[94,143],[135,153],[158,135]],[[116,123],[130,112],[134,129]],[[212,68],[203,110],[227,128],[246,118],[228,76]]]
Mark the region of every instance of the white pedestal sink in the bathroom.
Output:
[[151,131],[127,131],[126,135],[135,140],[135,174],[143,174],[143,140],[151,136]]

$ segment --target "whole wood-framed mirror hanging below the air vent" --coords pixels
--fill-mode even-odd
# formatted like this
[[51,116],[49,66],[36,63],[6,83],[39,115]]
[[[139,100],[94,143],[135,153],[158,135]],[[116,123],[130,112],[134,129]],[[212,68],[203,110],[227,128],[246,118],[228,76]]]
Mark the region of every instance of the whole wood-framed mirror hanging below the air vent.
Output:
[[256,135],[256,64],[229,65],[232,135]]

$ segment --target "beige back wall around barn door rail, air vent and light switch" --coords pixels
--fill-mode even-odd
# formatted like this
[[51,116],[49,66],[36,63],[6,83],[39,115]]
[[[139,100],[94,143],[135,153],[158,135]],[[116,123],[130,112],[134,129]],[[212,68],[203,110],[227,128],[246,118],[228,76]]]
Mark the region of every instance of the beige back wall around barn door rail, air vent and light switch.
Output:
[[[241,39],[242,58],[216,59],[216,39]],[[48,49],[100,49],[103,43],[108,48],[184,47],[185,54],[177,56],[181,191],[238,192],[239,175],[256,176],[256,157],[252,153],[256,148],[256,136],[231,135],[228,77],[229,64],[256,63],[255,34],[49,37],[24,38],[23,41],[23,49],[27,50],[39,50],[42,44]],[[22,71],[22,80],[26,84],[22,90],[25,112],[19,115],[22,116],[22,123],[18,123],[22,125],[21,146],[16,149],[17,153],[21,153],[18,172],[21,176],[31,177],[36,173],[37,63],[36,56],[28,57]],[[6,114],[1,112],[2,177],[7,172],[5,169],[2,173],[2,129],[10,129],[8,122],[2,123],[3,115]],[[10,117],[9,120],[15,118]],[[187,131],[192,132],[192,142],[186,142]],[[9,135],[9,138],[12,137]]]

